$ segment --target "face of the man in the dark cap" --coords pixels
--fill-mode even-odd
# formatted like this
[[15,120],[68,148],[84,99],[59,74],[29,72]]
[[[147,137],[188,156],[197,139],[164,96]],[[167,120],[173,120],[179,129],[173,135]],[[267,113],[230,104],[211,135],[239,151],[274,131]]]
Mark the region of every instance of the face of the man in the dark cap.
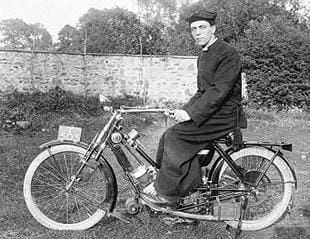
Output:
[[206,45],[215,32],[215,26],[204,20],[192,22],[190,27],[195,44],[198,46]]

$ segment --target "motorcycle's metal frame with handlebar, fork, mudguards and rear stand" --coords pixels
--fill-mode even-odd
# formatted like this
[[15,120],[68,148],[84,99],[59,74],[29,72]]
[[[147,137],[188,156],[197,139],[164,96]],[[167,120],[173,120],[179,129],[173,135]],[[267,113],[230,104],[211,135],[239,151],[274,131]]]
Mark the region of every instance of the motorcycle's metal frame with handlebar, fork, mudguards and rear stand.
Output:
[[[129,149],[129,152],[132,153],[132,155],[134,155],[133,152],[136,152],[138,155],[141,156],[143,161],[146,161],[147,163],[149,163],[153,168],[155,168],[155,170],[159,170],[159,166],[148,155],[148,153],[146,152],[147,150],[143,147],[142,144],[140,144],[138,141],[132,140],[130,138],[129,133],[127,134],[123,130],[123,127],[120,125],[120,122],[122,120],[123,114],[126,114],[126,113],[166,113],[167,110],[166,109],[131,108],[131,109],[120,109],[120,110],[113,110],[112,109],[109,111],[112,113],[112,117],[108,120],[107,124],[105,124],[105,126],[99,131],[99,133],[93,138],[93,140],[90,144],[86,144],[83,142],[54,140],[54,141],[50,141],[50,142],[47,142],[47,143],[41,145],[40,148],[47,150],[51,156],[53,156],[53,152],[52,152],[51,148],[53,146],[61,145],[61,144],[75,145],[78,147],[82,147],[86,150],[85,154],[82,156],[82,159],[81,159],[82,165],[78,168],[76,174],[74,174],[71,177],[71,182],[66,186],[66,190],[70,190],[70,187],[72,187],[76,182],[79,181],[79,178],[78,178],[79,174],[81,173],[83,168],[88,164],[88,161],[91,158],[95,159],[96,161],[100,161],[103,164],[106,164],[107,169],[112,174],[112,175],[110,175],[111,176],[110,177],[111,178],[110,185],[112,185],[112,187],[113,187],[113,193],[112,193],[112,197],[111,197],[111,206],[108,210],[105,209],[104,207],[101,208],[101,205],[99,205],[99,208],[101,208],[104,211],[104,216],[114,216],[116,218],[119,218],[120,220],[126,221],[117,212],[117,210],[114,210],[116,202],[117,202],[118,184],[117,184],[117,180],[116,180],[116,176],[115,176],[115,172],[113,170],[113,167],[111,167],[111,164],[109,163],[109,161],[111,161],[111,160],[110,160],[110,158],[104,157],[103,151],[107,147],[109,147],[112,150],[114,156],[116,157],[118,163],[122,167],[125,175],[129,179],[131,185],[133,186],[133,188],[136,192],[135,198],[134,198],[135,202],[137,202],[137,204],[139,204],[141,202],[144,205],[147,204],[145,201],[143,201],[143,198],[140,198],[139,193],[140,193],[141,189],[140,189],[140,187],[137,186],[137,181],[130,174],[130,170],[133,170],[133,168],[131,167],[130,163],[127,163],[128,158],[127,158],[125,152],[122,150],[120,145],[124,145],[127,149]],[[118,143],[116,143],[115,141],[112,141],[111,136],[113,133],[121,134],[122,140],[119,141]],[[191,205],[191,204],[184,205],[184,207],[183,207],[184,210],[182,210],[182,208],[180,208],[180,210],[173,210],[173,209],[169,209],[169,208],[161,208],[159,206],[157,207],[156,205],[147,204],[151,209],[154,209],[155,211],[166,212],[166,213],[169,213],[171,215],[178,216],[178,217],[191,218],[191,219],[197,219],[197,220],[238,221],[237,231],[236,231],[236,238],[237,238],[237,235],[239,235],[241,232],[241,223],[243,220],[243,216],[244,216],[245,209],[247,207],[247,201],[248,201],[248,198],[246,195],[249,193],[249,190],[246,189],[246,187],[239,187],[237,189],[224,189],[224,188],[217,187],[217,182],[219,181],[219,177],[221,176],[220,174],[221,174],[223,164],[227,163],[228,167],[232,169],[232,171],[235,173],[235,175],[240,180],[239,181],[240,185],[243,186],[246,184],[244,182],[245,170],[236,164],[236,162],[233,159],[234,158],[233,154],[235,152],[238,152],[238,150],[242,150],[243,148],[247,148],[247,147],[263,147],[263,148],[267,148],[269,151],[273,152],[273,156],[271,157],[271,160],[268,163],[267,167],[264,169],[263,173],[260,174],[260,176],[258,177],[258,179],[256,180],[256,182],[254,184],[250,184],[250,185],[248,184],[248,186],[250,186],[250,187],[257,186],[260,183],[260,181],[262,180],[264,174],[267,172],[270,165],[273,163],[273,161],[277,157],[280,157],[281,160],[283,160],[288,165],[289,169],[292,172],[292,176],[293,176],[292,181],[286,182],[286,183],[295,183],[295,188],[297,188],[296,173],[295,173],[293,167],[291,167],[289,162],[282,155],[282,151],[281,151],[282,149],[292,151],[292,144],[244,141],[244,142],[242,142],[241,147],[238,150],[235,150],[232,147],[231,136],[227,135],[223,138],[213,140],[211,142],[206,142],[205,149],[208,149],[210,145],[215,149],[215,151],[218,154],[218,157],[216,159],[214,159],[212,161],[212,164],[210,165],[211,168],[210,168],[210,171],[208,173],[208,178],[207,178],[208,182],[206,185],[202,186],[203,190],[208,190],[208,191],[203,191],[203,194],[204,194],[204,192],[207,192],[208,195],[212,195],[212,193],[215,192],[214,195],[217,196],[216,192],[227,191],[228,194],[225,194],[225,197],[226,197],[225,199],[227,199],[227,197],[229,199],[235,198],[235,197],[240,197],[239,216],[237,213],[237,214],[235,214],[235,216],[234,215],[228,215],[228,216],[226,216],[227,217],[226,218],[225,216],[220,215],[221,209],[219,209],[218,215],[210,215],[210,214],[203,214],[203,215],[199,214],[199,215],[197,215],[195,213],[192,214],[190,212],[189,213],[186,212],[187,209],[192,209],[192,208],[195,208],[197,206],[206,206],[205,202],[201,202],[201,203],[199,202],[199,204],[194,204],[194,205]],[[117,147],[119,147],[119,152],[122,152],[122,153],[118,154],[115,151],[116,150],[115,148],[117,148]],[[137,159],[137,161],[140,164],[145,165],[145,162],[143,162],[142,160],[139,161],[140,157],[137,157],[137,155],[136,155],[135,158]],[[197,190],[200,190],[200,187]],[[232,192],[232,193],[229,194],[229,192]],[[209,193],[211,193],[211,194],[209,194]],[[142,201],[140,201],[140,199],[142,199]],[[212,201],[213,199],[211,199],[211,200],[209,200],[209,199],[211,199],[211,198],[207,199],[208,200],[207,203],[213,203],[213,201]],[[218,203],[218,205],[221,203],[218,197],[216,197],[215,200],[218,200],[218,201],[216,201]],[[214,202],[214,204],[216,202]],[[289,207],[290,207],[290,205],[289,205]],[[98,205],[96,205],[96,206],[98,206]]]

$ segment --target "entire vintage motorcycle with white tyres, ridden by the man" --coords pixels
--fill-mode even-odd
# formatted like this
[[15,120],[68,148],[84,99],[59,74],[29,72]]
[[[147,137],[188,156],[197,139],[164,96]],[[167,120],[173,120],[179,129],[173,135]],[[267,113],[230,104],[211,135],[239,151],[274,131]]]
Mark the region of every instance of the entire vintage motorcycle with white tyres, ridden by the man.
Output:
[[121,122],[128,114],[169,115],[169,111],[105,109],[112,116],[89,145],[80,142],[81,128],[60,126],[58,139],[41,145],[43,151],[30,164],[24,199],[43,226],[85,230],[103,217],[121,218],[115,209],[115,172],[122,173],[131,185],[132,197],[125,203],[130,214],[147,208],[175,218],[225,221],[240,233],[271,226],[290,210],[297,179],[281,150],[292,151],[292,145],[245,141],[235,149],[231,134],[209,142],[197,154],[203,183],[182,197],[177,208],[147,203],[141,192],[156,178],[158,165],[139,142],[139,133],[125,130]]

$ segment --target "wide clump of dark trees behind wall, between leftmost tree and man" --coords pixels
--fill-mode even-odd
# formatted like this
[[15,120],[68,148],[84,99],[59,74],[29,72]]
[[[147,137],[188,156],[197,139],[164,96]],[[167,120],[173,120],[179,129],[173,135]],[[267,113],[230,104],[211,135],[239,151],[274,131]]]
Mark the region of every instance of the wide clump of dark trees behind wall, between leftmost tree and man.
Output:
[[121,8],[90,9],[79,26],[65,26],[59,33],[59,50],[87,53],[163,54],[167,43],[160,21],[142,23],[138,16]]

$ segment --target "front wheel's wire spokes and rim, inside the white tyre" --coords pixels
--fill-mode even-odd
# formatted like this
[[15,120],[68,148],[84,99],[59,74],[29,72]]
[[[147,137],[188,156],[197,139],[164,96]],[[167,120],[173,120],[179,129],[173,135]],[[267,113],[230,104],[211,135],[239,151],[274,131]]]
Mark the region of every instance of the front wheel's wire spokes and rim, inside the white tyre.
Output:
[[[53,223],[77,224],[88,220],[104,207],[109,188],[102,166],[83,180],[90,168],[85,167],[79,182],[67,186],[81,165],[82,154],[60,152],[48,157],[36,169],[31,181],[31,196],[36,208]],[[99,211],[102,211],[99,209]]]

